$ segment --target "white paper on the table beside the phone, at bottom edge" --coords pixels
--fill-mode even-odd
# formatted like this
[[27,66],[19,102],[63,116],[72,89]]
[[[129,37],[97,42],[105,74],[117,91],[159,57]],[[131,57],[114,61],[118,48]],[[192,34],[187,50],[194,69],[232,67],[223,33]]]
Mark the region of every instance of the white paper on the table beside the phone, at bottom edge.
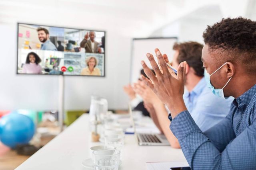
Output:
[[170,170],[175,167],[187,167],[188,162],[146,162],[147,170]]

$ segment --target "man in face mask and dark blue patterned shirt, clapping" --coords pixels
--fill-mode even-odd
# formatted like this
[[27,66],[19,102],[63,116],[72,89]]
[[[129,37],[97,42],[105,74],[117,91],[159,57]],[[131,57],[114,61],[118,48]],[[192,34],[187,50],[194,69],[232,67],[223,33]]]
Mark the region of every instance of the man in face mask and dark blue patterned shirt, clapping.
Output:
[[170,109],[170,129],[192,169],[256,169],[255,31],[256,22],[245,18],[222,19],[204,31],[202,61],[207,86],[216,96],[235,98],[228,116],[204,133],[182,98],[186,62],[180,63],[178,76],[174,76],[156,49],[161,73],[148,53],[157,77],[141,62],[153,83],[143,77],[142,80]]

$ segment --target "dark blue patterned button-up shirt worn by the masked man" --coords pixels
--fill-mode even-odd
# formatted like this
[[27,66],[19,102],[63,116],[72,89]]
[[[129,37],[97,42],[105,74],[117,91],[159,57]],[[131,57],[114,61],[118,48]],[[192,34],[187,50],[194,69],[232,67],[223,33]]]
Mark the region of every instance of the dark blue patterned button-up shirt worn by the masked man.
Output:
[[234,99],[228,116],[206,132],[188,111],[179,113],[170,129],[192,169],[256,170],[256,85]]

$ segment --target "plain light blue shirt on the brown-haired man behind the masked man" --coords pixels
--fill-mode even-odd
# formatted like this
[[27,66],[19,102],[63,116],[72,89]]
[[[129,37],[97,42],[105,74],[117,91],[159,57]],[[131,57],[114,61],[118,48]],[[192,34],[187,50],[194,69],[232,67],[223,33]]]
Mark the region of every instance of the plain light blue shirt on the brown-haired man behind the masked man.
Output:
[[201,131],[208,130],[226,117],[234,100],[225,100],[212,94],[206,86],[204,77],[191,92],[185,92],[183,98],[191,117]]

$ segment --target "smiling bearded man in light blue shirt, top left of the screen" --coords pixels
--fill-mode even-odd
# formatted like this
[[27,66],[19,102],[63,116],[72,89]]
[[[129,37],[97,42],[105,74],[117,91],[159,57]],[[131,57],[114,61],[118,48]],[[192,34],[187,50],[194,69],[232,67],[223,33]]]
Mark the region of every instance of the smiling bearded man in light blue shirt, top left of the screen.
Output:
[[45,28],[39,27],[37,29],[38,39],[42,43],[41,50],[57,51],[56,46],[50,41],[49,31]]

